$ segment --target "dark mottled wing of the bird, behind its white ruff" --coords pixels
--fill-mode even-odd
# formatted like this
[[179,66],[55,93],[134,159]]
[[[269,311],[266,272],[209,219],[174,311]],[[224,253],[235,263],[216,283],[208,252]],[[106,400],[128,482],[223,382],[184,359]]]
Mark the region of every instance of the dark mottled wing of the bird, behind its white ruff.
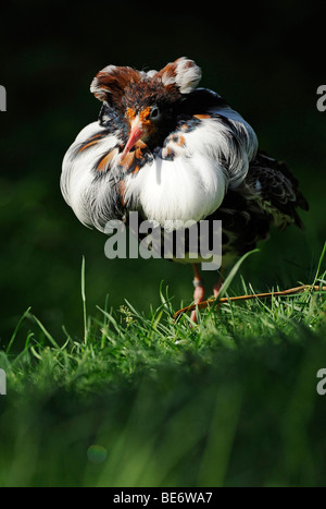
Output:
[[223,255],[241,256],[267,239],[272,227],[302,222],[297,208],[308,210],[298,181],[287,166],[259,152],[244,182],[228,190],[221,207],[208,219],[221,219]]

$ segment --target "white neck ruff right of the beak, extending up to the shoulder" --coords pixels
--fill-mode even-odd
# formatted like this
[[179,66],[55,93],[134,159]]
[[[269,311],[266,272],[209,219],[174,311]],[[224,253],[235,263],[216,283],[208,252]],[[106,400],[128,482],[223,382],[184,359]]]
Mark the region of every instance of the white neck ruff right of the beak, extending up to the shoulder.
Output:
[[128,177],[126,202],[136,204],[146,217],[161,225],[178,219],[199,221],[216,210],[227,187],[243,181],[256,150],[250,125],[234,110],[227,113],[229,124],[208,118],[192,131],[177,131],[183,143],[174,143],[172,134],[167,148],[175,158],[156,156],[136,175]]

